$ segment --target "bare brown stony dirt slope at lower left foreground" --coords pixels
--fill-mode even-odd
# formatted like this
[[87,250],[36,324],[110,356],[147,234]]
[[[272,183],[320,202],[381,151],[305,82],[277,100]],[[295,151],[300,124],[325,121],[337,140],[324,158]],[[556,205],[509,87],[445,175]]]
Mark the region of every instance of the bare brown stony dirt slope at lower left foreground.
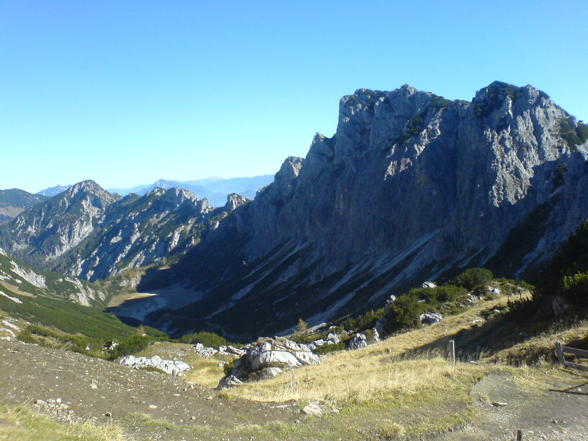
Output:
[[0,341],[0,378],[0,404],[28,402],[65,421],[112,420],[134,439],[185,439],[174,426],[229,428],[300,417],[291,407],[227,400],[160,372],[18,341]]

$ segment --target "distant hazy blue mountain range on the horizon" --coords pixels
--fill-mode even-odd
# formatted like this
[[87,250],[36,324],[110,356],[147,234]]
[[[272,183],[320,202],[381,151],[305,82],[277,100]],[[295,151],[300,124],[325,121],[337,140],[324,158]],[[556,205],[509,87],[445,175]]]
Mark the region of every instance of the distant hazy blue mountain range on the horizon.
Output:
[[110,189],[110,191],[125,196],[130,193],[143,195],[155,188],[183,188],[197,195],[199,198],[208,199],[213,207],[221,207],[224,205],[227,196],[231,193],[240,194],[248,199],[253,199],[257,191],[266,185],[269,185],[272,180],[272,175],[229,179],[206,178],[194,181],[170,181],[160,179],[149,185],[140,185],[133,188]]

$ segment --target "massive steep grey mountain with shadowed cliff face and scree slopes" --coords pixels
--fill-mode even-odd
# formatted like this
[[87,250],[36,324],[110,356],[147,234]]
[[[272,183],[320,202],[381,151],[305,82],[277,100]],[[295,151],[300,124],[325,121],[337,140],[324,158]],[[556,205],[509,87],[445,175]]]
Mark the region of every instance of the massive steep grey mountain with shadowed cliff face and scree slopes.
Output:
[[340,101],[334,136],[143,288],[203,293],[148,323],[271,335],[379,307],[391,293],[488,266],[540,268],[588,217],[588,126],[532,86],[471,102],[410,86]]

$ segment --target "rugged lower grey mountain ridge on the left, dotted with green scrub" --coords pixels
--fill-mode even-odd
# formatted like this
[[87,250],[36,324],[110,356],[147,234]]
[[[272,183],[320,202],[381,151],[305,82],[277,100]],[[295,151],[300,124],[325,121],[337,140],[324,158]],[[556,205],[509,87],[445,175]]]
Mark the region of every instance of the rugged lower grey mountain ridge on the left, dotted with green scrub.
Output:
[[71,186],[0,228],[0,244],[35,266],[87,280],[162,263],[199,241],[227,211],[182,189],[111,194],[94,181]]

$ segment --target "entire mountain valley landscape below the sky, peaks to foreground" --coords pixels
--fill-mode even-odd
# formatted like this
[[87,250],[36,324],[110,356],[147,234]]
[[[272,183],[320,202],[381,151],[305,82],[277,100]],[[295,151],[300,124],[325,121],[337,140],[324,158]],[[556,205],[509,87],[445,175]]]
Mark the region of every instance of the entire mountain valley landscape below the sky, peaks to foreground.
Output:
[[586,164],[530,85],[405,85],[252,200],[4,191],[0,440],[585,441]]

